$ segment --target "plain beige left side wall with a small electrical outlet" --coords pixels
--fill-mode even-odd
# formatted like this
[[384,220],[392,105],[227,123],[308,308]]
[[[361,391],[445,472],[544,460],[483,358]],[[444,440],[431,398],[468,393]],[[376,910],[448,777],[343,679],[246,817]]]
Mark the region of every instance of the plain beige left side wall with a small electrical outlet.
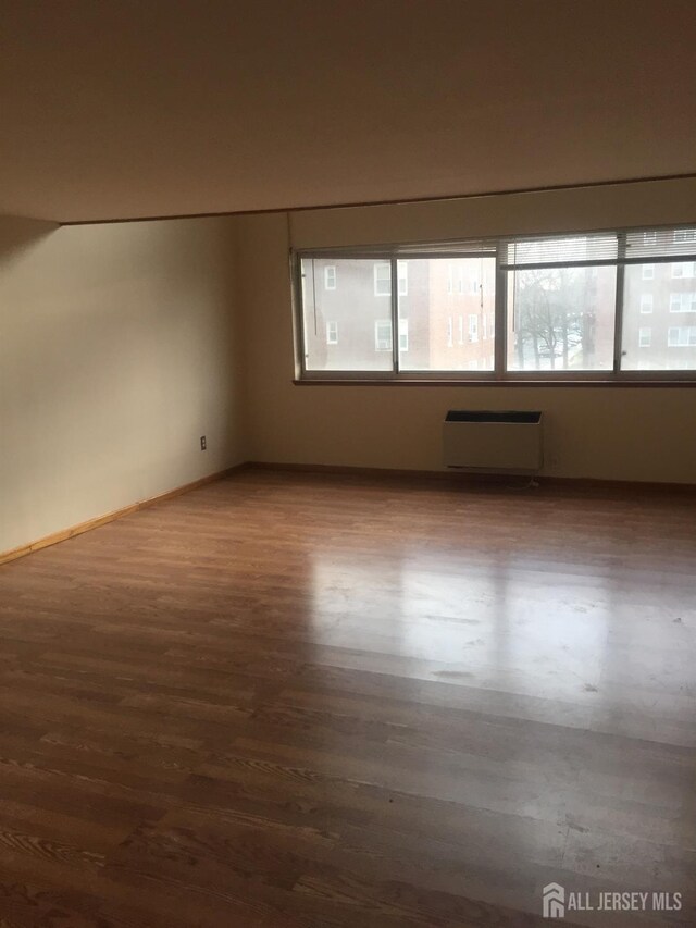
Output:
[[0,219],[0,552],[245,458],[234,226]]

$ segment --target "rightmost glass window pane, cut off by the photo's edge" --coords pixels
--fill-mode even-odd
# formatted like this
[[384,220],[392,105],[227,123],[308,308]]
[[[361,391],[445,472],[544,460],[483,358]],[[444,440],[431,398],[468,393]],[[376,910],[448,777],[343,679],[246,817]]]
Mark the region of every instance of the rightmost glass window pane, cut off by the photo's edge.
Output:
[[621,369],[696,370],[696,262],[626,265]]

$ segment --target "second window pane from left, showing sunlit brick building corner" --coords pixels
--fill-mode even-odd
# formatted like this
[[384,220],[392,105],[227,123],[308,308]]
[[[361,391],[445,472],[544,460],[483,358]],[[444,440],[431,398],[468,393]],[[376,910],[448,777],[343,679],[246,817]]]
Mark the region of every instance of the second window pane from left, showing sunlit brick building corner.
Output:
[[495,258],[399,261],[399,368],[493,371]]

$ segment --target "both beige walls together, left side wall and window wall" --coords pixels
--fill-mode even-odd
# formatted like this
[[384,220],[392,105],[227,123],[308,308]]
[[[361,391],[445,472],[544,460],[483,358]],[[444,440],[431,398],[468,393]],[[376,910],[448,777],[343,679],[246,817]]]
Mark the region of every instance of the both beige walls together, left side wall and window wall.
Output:
[[694,181],[291,216],[0,218],[0,552],[243,460],[439,470],[451,407],[544,410],[549,474],[696,483],[696,389],[295,386],[287,261],[290,243],[694,220]]

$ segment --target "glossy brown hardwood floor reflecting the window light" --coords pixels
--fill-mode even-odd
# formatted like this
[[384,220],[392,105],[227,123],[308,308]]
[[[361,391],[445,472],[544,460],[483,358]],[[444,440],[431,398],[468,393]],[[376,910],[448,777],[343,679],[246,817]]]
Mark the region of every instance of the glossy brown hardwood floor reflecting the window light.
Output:
[[245,471],[0,568],[0,926],[696,925],[696,504]]

